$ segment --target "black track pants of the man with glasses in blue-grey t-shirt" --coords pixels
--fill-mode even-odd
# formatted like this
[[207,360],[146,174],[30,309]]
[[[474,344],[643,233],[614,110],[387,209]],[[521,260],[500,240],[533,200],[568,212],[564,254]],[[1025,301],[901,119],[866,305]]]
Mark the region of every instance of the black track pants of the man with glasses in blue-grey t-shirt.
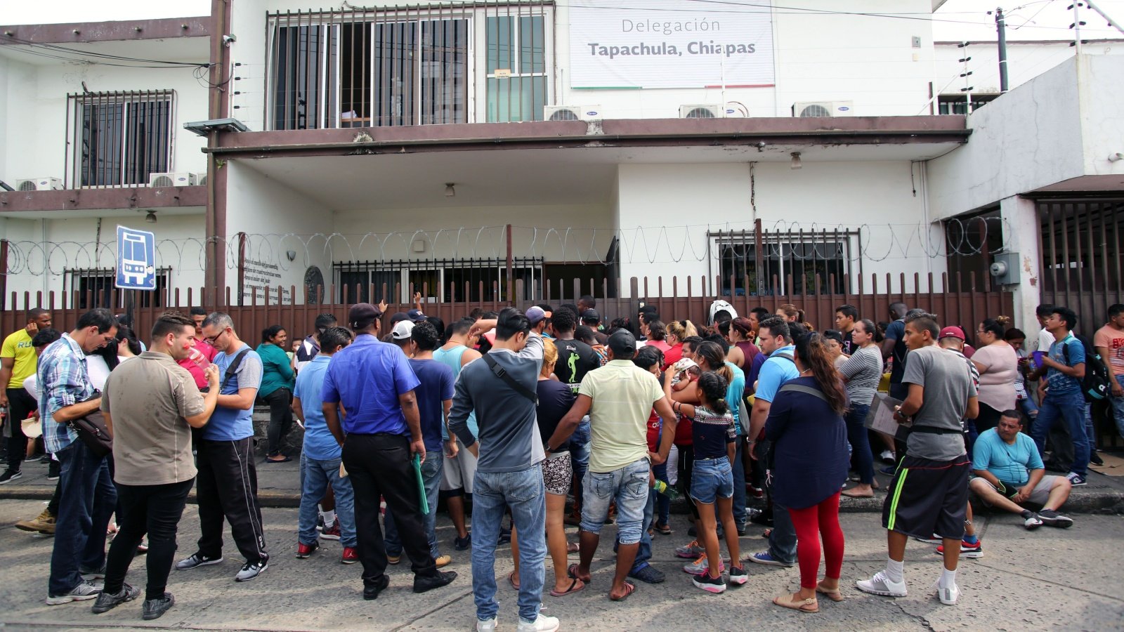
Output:
[[223,518],[230,523],[230,535],[246,561],[268,560],[262,508],[257,504],[257,471],[253,460],[254,437],[238,441],[199,442],[196,467],[196,496],[199,503],[199,553],[223,556]]

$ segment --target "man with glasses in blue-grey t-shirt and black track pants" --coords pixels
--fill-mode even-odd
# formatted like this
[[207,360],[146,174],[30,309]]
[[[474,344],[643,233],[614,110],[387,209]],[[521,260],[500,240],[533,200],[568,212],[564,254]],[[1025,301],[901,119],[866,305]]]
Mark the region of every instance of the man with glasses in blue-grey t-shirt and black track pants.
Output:
[[[235,581],[250,581],[269,568],[262,508],[257,504],[257,472],[254,469],[254,399],[262,385],[262,359],[238,338],[234,320],[221,312],[207,316],[203,340],[218,354],[218,405],[203,426],[196,446],[196,497],[199,504],[199,550],[175,563],[190,570],[223,561],[223,518],[246,559]],[[233,368],[233,374],[232,374]]]

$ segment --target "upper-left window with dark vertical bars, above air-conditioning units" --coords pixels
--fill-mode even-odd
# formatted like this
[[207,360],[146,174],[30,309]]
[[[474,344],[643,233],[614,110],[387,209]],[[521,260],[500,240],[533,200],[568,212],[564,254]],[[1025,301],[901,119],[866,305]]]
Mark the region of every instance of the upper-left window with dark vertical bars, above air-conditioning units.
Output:
[[171,171],[174,106],[172,90],[69,94],[69,182],[132,187]]

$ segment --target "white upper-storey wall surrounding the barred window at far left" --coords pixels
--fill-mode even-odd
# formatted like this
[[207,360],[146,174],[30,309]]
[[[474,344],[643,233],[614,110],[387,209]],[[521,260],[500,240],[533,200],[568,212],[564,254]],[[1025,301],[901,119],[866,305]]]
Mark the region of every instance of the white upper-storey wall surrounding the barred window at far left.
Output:
[[[6,93],[0,101],[6,101],[8,111],[0,117],[0,134],[7,136],[0,142],[0,179],[10,184],[21,178],[64,177],[70,166],[65,152],[71,141],[66,137],[66,96],[82,92],[83,82],[93,92],[174,90],[170,171],[206,171],[200,153],[206,139],[182,128],[185,121],[207,118],[207,89],[192,75],[192,67],[31,65],[15,61],[7,61],[4,66],[0,78],[7,74],[7,82],[0,84]],[[73,124],[70,127],[73,135]],[[73,187],[73,171],[69,175]]]

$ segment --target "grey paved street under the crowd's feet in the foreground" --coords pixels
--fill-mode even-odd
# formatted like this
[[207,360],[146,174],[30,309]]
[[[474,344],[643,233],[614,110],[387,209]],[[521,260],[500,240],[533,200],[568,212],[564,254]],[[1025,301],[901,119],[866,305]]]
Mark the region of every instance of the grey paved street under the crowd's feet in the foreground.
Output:
[[[339,563],[339,543],[325,542],[311,559],[293,557],[297,511],[264,511],[270,568],[247,584],[233,580],[241,566],[227,538],[226,561],[190,571],[172,571],[169,583],[176,605],[154,622],[140,620],[140,603],[94,615],[92,602],[47,606],[47,570],[53,540],[18,531],[17,520],[34,517],[42,500],[0,500],[0,626],[4,630],[70,630],[114,628],[179,630],[472,630],[469,552],[453,551],[448,520],[438,516],[442,552],[453,556],[446,570],[460,577],[452,585],[423,595],[410,590],[406,560],[391,567],[390,587],[378,601],[361,597],[360,566]],[[563,630],[1124,630],[1124,517],[1075,514],[1069,530],[1042,527],[1027,532],[1013,515],[978,516],[985,556],[962,560],[962,597],[944,606],[930,587],[940,574],[935,547],[910,542],[906,556],[909,595],[885,598],[858,592],[855,579],[885,565],[885,531],[876,513],[844,514],[846,554],[843,585],[846,599],[821,599],[818,614],[803,614],[771,604],[772,597],[795,590],[796,568],[746,565],[750,581],[724,595],[695,588],[681,570],[686,560],[673,549],[686,540],[687,522],[672,515],[673,535],[654,542],[654,565],[667,572],[660,585],[641,584],[623,603],[607,597],[613,574],[611,540],[606,526],[593,563],[592,584],[561,598],[544,594],[546,614],[561,619]],[[742,556],[761,550],[760,527],[741,539]],[[573,530],[568,532],[573,540]],[[188,505],[180,524],[180,552],[194,551],[199,521]],[[571,557],[577,561],[577,557]],[[508,547],[498,550],[496,572],[511,569]],[[551,572],[547,561],[547,572]],[[138,558],[128,581],[144,586],[144,559]],[[515,590],[499,581],[500,630],[514,630]]]

